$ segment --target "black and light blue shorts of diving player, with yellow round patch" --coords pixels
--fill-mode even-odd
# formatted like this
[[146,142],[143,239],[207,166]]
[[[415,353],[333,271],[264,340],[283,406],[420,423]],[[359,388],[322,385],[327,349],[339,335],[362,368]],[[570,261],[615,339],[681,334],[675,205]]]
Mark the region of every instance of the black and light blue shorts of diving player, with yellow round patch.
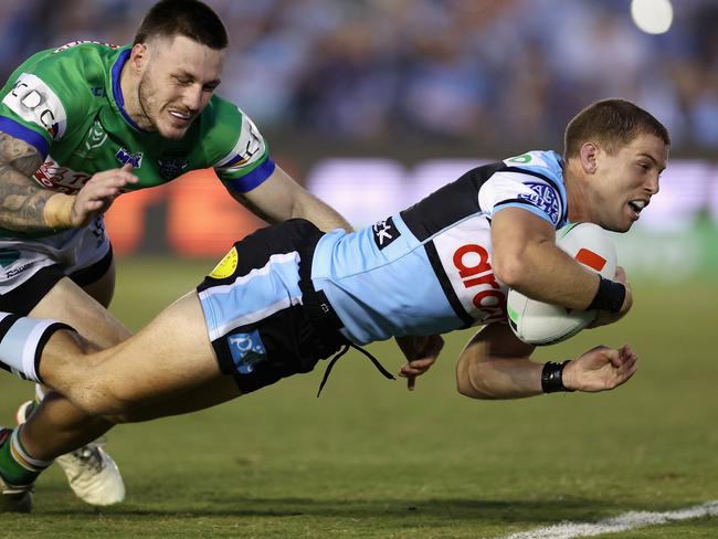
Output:
[[236,242],[197,287],[220,370],[243,393],[309,372],[347,342],[310,281],[323,234],[302,219],[261,229]]

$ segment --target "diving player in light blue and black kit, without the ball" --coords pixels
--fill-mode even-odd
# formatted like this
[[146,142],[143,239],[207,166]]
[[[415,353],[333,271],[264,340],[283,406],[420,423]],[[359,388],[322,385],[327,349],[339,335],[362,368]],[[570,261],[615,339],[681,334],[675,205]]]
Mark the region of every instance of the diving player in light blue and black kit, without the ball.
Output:
[[[197,290],[114,348],[97,350],[53,320],[0,315],[0,361],[88,414],[127,422],[218,404],[310,371],[342,347],[392,336],[411,388],[442,348],[436,334],[484,326],[456,367],[467,397],[613,389],[636,369],[629,346],[534,362],[534,347],[506,324],[507,285],[534,299],[598,309],[595,325],[623,316],[632,305],[625,275],[608,281],[585,270],[556,246],[555,232],[577,221],[631,229],[658,192],[668,146],[667,130],[647,112],[599,102],[567,127],[563,159],[531,151],[476,168],[356,233],[325,234],[305,220],[255,232]],[[22,432],[4,436],[33,468]],[[30,488],[21,472],[0,466],[18,505]]]

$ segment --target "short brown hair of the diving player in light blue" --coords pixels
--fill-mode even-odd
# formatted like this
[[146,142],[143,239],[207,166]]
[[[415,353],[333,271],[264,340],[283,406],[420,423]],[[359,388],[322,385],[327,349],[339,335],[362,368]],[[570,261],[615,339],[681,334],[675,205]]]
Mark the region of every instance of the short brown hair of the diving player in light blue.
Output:
[[578,156],[581,146],[589,141],[613,154],[640,135],[655,135],[671,146],[668,129],[651,113],[624,99],[603,99],[569,121],[563,137],[563,159]]

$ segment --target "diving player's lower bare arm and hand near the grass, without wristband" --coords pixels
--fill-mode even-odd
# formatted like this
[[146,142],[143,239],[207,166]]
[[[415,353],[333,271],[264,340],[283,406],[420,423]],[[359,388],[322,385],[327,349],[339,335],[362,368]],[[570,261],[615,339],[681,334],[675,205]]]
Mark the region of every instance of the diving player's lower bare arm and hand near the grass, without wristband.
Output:
[[[518,340],[504,324],[478,331],[458,358],[458,392],[474,399],[518,399],[543,393],[542,363],[530,361],[532,346]],[[563,368],[568,391],[603,391],[625,383],[636,370],[637,356],[629,346],[595,347]]]

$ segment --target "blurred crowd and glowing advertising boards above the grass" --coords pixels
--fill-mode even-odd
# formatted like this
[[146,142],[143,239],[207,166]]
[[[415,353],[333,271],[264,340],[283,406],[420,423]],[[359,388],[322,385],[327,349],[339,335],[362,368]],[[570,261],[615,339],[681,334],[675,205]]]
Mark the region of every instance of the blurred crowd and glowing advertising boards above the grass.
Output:
[[[73,40],[126,43],[151,3],[3,0],[0,73]],[[220,94],[352,224],[382,219],[476,163],[560,150],[573,114],[623,97],[666,124],[674,142],[663,193],[625,239],[624,264],[663,276],[666,261],[682,275],[718,267],[715,0],[676,2],[661,34],[638,29],[630,0],[208,3],[232,41]],[[633,3],[655,19],[669,2]],[[215,257],[256,228],[210,176],[120,199],[108,216],[116,251]]]

